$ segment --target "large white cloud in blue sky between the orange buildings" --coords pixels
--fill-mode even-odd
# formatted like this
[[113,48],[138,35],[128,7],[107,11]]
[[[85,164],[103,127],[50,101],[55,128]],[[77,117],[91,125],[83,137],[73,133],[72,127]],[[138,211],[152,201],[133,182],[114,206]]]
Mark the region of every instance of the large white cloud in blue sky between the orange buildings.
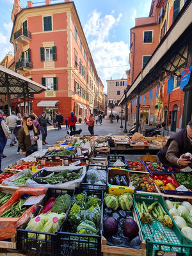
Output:
[[95,67],[98,68],[99,77],[105,85],[105,92],[106,80],[110,79],[110,77],[120,79],[129,66],[128,44],[123,41],[109,42],[108,40],[112,29],[120,21],[121,17],[122,13],[118,15],[117,19],[113,15],[102,17],[101,13],[94,10],[84,26],[84,33],[92,52]]

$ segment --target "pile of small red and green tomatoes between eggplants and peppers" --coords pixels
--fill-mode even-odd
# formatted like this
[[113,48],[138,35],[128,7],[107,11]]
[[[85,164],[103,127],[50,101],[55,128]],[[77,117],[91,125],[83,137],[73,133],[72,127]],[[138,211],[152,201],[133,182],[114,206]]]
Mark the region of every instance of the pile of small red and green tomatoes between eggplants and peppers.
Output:
[[131,181],[133,182],[132,185],[136,190],[147,191],[150,193],[157,192],[153,180],[145,174],[132,173]]

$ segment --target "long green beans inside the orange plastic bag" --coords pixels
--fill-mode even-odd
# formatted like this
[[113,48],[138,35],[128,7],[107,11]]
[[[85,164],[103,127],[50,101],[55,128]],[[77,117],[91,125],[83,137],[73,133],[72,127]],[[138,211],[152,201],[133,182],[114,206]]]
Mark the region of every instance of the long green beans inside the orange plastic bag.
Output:
[[24,202],[28,200],[29,196],[24,199],[20,199],[19,201],[15,202],[12,207],[6,211],[4,211],[0,217],[4,218],[19,218],[27,209],[27,206],[24,206]]

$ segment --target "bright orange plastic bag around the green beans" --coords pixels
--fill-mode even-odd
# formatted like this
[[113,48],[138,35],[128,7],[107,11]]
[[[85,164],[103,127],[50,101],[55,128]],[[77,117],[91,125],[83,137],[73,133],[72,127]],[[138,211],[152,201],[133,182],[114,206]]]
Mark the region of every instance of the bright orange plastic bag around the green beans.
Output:
[[[10,209],[12,205],[17,202],[23,194],[39,196],[46,193],[45,188],[19,188],[15,191],[13,196],[0,207],[0,215]],[[27,211],[19,218],[1,218],[0,217],[0,240],[8,239],[17,233],[16,228],[28,221],[33,212],[36,210],[36,205],[29,207]]]

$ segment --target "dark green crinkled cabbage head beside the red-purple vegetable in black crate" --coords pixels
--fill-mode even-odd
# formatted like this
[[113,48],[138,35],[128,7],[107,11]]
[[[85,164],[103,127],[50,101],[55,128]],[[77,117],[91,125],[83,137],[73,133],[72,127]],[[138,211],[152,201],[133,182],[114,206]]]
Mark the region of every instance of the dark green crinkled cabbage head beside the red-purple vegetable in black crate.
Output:
[[72,198],[70,195],[65,194],[56,198],[54,205],[52,206],[52,212],[63,213],[67,212]]

